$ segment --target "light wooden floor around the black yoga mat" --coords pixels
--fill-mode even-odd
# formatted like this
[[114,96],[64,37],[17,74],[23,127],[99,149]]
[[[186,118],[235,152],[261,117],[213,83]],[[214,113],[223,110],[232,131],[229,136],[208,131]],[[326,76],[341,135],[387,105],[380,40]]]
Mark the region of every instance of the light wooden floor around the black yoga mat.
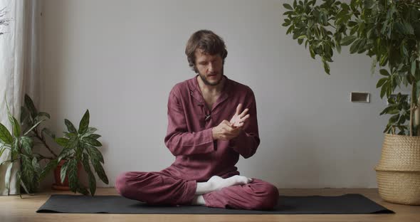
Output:
[[[98,213],[36,213],[51,194],[73,194],[68,191],[48,191],[35,196],[0,196],[0,221],[420,221],[420,206],[387,203],[377,189],[280,189],[280,195],[363,194],[396,212],[395,214],[355,215],[170,215],[170,214],[98,214]],[[97,195],[117,195],[115,189],[100,188]]]

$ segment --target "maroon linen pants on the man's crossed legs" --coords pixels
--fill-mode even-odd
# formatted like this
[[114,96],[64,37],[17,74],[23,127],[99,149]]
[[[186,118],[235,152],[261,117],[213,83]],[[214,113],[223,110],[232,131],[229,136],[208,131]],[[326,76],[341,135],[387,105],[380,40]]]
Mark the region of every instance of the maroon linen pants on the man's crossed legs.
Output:
[[[196,181],[174,178],[162,171],[128,171],[117,176],[115,189],[121,196],[149,204],[189,205],[196,192]],[[269,210],[277,204],[278,189],[253,179],[250,184],[229,186],[203,197],[209,207]]]

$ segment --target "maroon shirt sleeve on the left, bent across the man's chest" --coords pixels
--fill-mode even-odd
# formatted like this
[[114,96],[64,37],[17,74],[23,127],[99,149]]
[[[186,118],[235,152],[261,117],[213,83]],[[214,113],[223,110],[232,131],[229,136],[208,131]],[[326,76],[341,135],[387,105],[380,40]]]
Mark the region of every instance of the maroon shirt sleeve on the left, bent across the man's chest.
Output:
[[164,143],[174,156],[206,154],[214,152],[213,132],[204,129],[200,132],[189,132],[182,103],[172,89],[168,100],[168,129]]

